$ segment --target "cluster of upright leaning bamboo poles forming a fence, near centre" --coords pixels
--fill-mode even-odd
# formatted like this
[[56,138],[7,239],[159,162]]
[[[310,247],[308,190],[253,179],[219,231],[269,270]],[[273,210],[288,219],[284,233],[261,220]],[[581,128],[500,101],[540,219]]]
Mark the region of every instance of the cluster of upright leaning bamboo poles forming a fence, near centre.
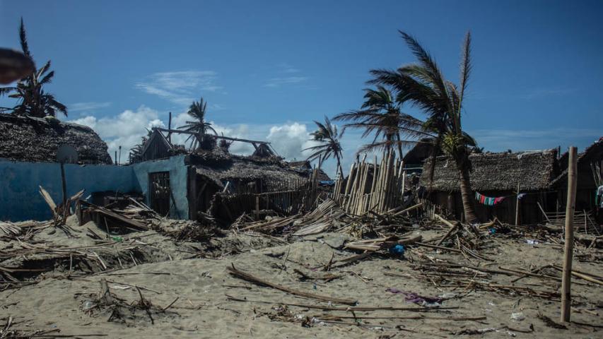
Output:
[[336,181],[333,198],[349,214],[387,213],[402,204],[405,178],[404,162],[394,153],[384,152],[379,163],[377,156],[370,163],[364,155],[361,162],[352,164],[346,180]]

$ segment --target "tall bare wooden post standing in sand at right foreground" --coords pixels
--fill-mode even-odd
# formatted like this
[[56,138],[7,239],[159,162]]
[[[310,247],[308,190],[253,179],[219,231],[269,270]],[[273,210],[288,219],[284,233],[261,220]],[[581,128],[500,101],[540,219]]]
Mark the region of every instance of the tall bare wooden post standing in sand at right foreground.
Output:
[[572,276],[572,255],[574,244],[574,210],[575,210],[575,191],[577,169],[577,149],[570,147],[570,156],[568,164],[568,202],[566,204],[566,246],[563,252],[563,277],[561,279],[561,321],[570,321],[571,306],[571,276]]

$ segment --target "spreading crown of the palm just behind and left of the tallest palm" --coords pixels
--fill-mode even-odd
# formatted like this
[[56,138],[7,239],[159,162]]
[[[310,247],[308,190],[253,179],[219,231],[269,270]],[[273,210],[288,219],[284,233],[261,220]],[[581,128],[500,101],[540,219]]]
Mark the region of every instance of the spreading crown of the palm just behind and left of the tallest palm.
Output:
[[[365,89],[365,102],[361,109],[341,113],[334,117],[336,121],[350,121],[346,127],[364,129],[362,137],[374,133],[373,142],[364,145],[358,153],[385,148],[390,151],[397,145],[400,157],[403,157],[402,146],[414,141],[403,140],[402,136],[429,136],[422,131],[423,121],[401,111],[401,102],[396,102],[390,90],[382,85],[377,89]],[[381,141],[377,141],[378,139]]]

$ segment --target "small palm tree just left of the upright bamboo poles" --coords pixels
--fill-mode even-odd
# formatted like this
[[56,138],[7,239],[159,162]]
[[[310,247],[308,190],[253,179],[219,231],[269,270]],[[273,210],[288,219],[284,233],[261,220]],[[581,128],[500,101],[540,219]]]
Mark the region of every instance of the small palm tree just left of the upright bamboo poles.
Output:
[[344,171],[341,169],[341,157],[343,157],[341,153],[343,148],[341,148],[341,143],[339,142],[341,136],[344,135],[344,131],[337,133],[337,126],[331,124],[331,121],[327,117],[324,117],[324,124],[318,121],[314,121],[314,123],[317,126],[317,130],[310,133],[310,136],[312,136],[310,140],[317,141],[320,144],[304,149],[314,152],[308,157],[308,161],[319,159],[318,167],[320,168],[324,160],[334,156],[337,160],[337,171],[341,177],[344,177]]

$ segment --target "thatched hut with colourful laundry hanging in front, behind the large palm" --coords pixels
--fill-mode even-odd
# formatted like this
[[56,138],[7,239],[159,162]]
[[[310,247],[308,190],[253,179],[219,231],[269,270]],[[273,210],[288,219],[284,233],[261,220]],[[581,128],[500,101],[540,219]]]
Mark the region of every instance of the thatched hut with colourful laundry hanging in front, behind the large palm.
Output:
[[[552,189],[553,180],[559,174],[556,150],[472,154],[469,159],[472,162],[471,187],[474,193],[503,198],[494,206],[476,201],[480,220],[497,217],[503,222],[514,223],[517,189],[525,194],[519,204],[519,223],[533,224],[543,220],[544,215],[538,205],[544,210],[556,210],[557,194]],[[428,191],[431,189],[430,200],[462,220],[459,172],[454,160],[437,157],[433,182],[430,181],[430,167],[431,160],[428,159],[421,174],[421,185]]]

